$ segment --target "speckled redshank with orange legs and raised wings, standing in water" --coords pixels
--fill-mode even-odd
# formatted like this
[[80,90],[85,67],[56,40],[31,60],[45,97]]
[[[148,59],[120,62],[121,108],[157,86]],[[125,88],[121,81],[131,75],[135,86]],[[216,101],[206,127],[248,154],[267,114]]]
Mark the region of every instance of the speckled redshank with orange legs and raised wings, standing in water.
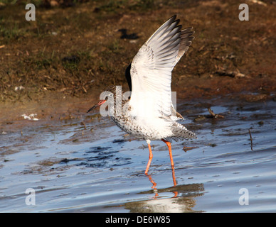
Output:
[[128,99],[122,99],[124,92],[120,87],[110,86],[105,91],[105,99],[87,111],[110,102],[110,116],[117,126],[147,141],[149,161],[145,174],[153,157],[151,140],[166,143],[174,170],[171,140],[196,138],[195,133],[179,123],[184,118],[176,112],[171,101],[171,71],[194,38],[192,28],[181,28],[179,19],[172,16],[139,49],[126,70],[131,90]]

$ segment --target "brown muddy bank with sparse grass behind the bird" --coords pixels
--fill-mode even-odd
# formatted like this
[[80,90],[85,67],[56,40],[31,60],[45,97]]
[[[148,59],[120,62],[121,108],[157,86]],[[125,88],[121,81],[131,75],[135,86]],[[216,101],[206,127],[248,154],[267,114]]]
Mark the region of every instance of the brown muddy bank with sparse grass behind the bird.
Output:
[[276,4],[248,1],[249,21],[239,21],[239,4],[82,1],[38,5],[36,21],[24,19],[23,3],[1,4],[1,119],[16,118],[19,110],[41,117],[85,112],[109,84],[127,89],[125,68],[174,14],[196,31],[173,72],[179,98],[275,99]]

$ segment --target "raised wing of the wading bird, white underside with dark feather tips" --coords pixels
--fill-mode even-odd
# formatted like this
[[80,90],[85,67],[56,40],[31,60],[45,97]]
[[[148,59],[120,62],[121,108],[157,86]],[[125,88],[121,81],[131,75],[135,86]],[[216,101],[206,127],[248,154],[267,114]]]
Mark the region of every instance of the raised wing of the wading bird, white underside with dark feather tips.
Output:
[[140,114],[171,116],[171,71],[193,40],[191,28],[181,31],[178,24],[176,16],[169,18],[132,60],[129,104]]

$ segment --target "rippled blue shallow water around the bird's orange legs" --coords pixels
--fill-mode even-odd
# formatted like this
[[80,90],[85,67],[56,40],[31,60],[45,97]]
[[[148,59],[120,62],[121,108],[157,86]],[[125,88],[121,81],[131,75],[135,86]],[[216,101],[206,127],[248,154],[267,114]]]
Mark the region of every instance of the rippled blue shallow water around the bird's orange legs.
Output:
[[[210,104],[224,118],[209,118]],[[97,111],[53,123],[22,118],[29,124],[21,130],[4,131],[3,123],[0,211],[275,212],[276,102],[179,100],[177,110],[198,139],[172,144],[176,185],[166,144],[152,141],[154,158],[144,175],[147,143]]]

